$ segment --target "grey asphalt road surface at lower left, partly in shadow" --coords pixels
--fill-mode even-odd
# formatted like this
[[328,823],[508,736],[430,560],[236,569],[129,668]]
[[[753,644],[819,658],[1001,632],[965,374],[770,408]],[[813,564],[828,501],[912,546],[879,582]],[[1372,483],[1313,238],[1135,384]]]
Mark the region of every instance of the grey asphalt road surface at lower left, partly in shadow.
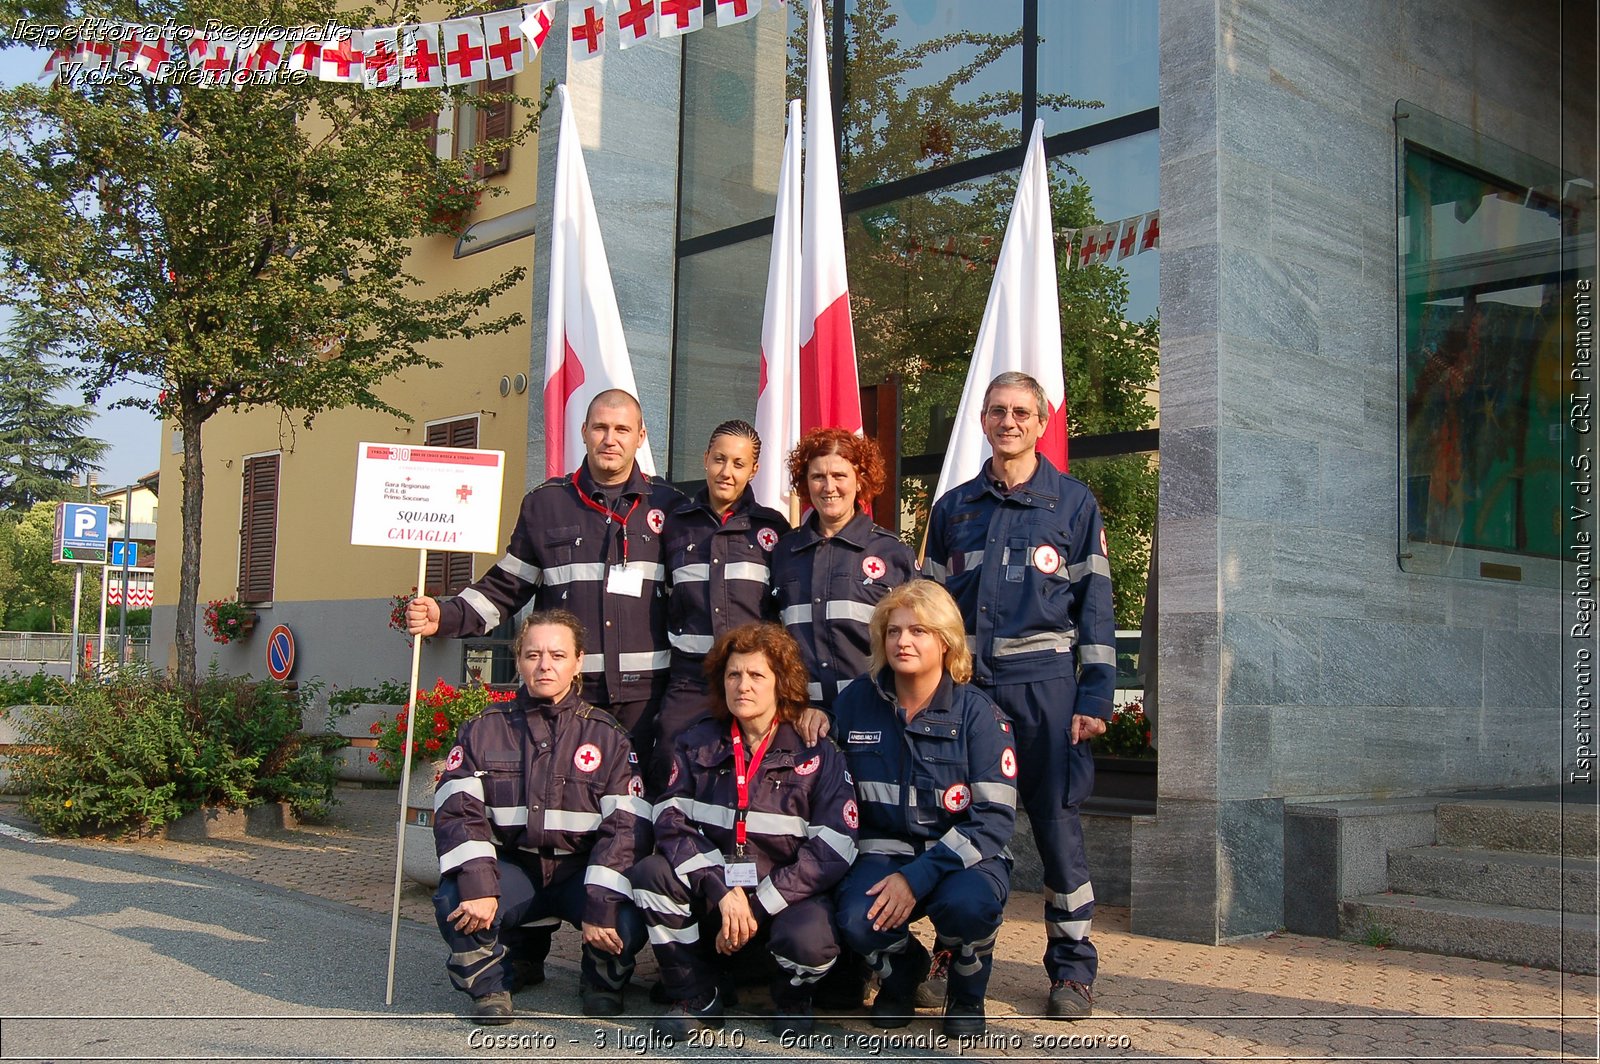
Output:
[[[576,933],[557,938],[573,960],[576,944]],[[662,1046],[648,1018],[573,1016],[576,965],[518,994],[528,1014],[515,1024],[477,1027],[456,1014],[466,997],[446,982],[438,934],[408,922],[395,1003],[384,1006],[387,946],[387,918],[339,902],[126,850],[0,834],[0,1059],[795,1054],[762,1043],[754,1026],[741,1045]],[[643,1005],[642,989],[630,994]]]

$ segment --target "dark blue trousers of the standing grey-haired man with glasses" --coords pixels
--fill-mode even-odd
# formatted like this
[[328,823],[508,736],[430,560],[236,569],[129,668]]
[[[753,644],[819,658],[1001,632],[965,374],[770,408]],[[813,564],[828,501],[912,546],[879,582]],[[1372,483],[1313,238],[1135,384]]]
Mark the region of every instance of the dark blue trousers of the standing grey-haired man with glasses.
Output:
[[[1080,891],[1090,885],[1090,864],[1078,805],[1094,790],[1094,755],[1088,742],[1070,742],[1077,685],[1062,678],[982,690],[1006,712],[1016,734],[1018,798],[1027,811],[1045,878],[1045,971],[1051,979],[1091,984],[1099,954],[1088,936],[1093,886],[1090,901],[1080,901]],[[1056,894],[1070,896],[1075,907],[1053,904]]]

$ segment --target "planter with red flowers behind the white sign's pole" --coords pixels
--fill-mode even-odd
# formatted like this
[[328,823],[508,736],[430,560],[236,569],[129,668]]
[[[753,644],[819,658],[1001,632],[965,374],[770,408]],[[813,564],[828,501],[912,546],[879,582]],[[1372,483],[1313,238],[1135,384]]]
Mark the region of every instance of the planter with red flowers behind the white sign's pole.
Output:
[[406,710],[398,709],[387,720],[371,726],[378,749],[368,754],[389,779],[400,779],[405,757],[411,758],[411,789],[405,813],[405,875],[424,886],[438,886],[438,861],[434,856],[434,786],[445,770],[443,758],[456,746],[456,733],[494,702],[509,702],[514,691],[491,691],[483,686],[458,688],[438,680],[430,691],[416,693],[416,728],[411,749],[405,750]]

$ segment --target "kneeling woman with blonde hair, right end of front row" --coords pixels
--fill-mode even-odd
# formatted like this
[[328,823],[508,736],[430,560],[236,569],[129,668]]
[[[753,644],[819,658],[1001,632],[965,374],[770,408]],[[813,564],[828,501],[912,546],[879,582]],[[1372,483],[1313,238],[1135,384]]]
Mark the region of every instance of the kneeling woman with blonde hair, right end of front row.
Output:
[[933,581],[885,595],[870,634],[872,670],[834,702],[861,794],[861,859],[838,888],[840,936],[878,973],[872,1024],[904,1027],[930,962],[909,925],[926,915],[949,954],[944,1034],[982,1034],[1011,890],[1011,725],[968,683],[962,614]]

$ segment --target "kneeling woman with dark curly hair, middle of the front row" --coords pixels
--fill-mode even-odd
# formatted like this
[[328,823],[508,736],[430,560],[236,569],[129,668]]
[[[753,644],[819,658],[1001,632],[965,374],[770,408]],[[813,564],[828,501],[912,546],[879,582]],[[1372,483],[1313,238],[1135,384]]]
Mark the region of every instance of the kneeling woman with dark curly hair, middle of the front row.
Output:
[[854,790],[838,749],[808,747],[794,730],[806,675],[787,632],[723,632],[706,675],[712,720],[678,738],[654,806],[659,853],[629,872],[677,1002],[656,1030],[722,1027],[717,954],[766,939],[773,1030],[803,1034],[811,987],[838,957],[830,894],[856,856]]

